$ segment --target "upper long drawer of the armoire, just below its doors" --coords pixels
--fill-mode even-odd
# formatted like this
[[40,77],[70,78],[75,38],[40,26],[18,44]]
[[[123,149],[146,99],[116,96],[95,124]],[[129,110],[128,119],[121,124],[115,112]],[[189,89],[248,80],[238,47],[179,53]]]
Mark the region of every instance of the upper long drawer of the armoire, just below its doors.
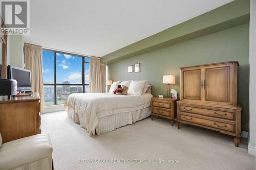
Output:
[[234,111],[227,112],[227,111],[219,111],[219,110],[210,110],[210,109],[182,106],[182,105],[180,105],[179,111],[214,116],[214,117],[227,118],[227,119],[231,119],[231,120],[234,119]]

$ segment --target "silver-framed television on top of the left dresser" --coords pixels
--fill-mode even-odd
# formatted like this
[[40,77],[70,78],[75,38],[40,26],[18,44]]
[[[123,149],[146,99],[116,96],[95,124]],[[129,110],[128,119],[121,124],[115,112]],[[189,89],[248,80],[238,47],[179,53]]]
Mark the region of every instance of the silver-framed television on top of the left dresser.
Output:
[[17,80],[17,89],[21,91],[31,91],[31,71],[19,67],[8,65],[8,79]]

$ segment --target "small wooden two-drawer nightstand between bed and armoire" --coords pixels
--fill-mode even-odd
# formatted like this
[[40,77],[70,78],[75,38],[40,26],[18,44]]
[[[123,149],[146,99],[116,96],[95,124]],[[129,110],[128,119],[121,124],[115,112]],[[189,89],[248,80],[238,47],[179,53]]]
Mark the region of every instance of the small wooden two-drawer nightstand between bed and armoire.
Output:
[[154,116],[168,118],[174,126],[174,119],[177,117],[177,101],[172,98],[151,98],[151,119],[153,120]]

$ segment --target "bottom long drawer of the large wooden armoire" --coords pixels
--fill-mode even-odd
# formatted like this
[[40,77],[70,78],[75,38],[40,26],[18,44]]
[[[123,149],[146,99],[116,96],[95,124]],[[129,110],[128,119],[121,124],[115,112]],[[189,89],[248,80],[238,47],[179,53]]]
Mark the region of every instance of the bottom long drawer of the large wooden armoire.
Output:
[[186,122],[191,122],[199,125],[204,125],[212,128],[217,128],[217,129],[222,129],[230,132],[234,132],[234,126],[236,125],[235,123],[222,123],[222,122],[217,122],[214,120],[208,120],[204,118],[199,118],[199,117],[194,117],[191,115],[183,115],[182,113],[179,114],[179,119],[186,121]]

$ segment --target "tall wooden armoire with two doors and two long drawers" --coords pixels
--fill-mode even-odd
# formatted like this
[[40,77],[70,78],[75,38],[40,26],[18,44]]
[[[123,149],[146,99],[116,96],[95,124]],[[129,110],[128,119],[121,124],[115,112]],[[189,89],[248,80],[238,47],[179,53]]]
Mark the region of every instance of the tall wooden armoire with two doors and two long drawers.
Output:
[[238,105],[237,61],[180,68],[180,123],[207,128],[234,136],[239,147],[241,110]]

